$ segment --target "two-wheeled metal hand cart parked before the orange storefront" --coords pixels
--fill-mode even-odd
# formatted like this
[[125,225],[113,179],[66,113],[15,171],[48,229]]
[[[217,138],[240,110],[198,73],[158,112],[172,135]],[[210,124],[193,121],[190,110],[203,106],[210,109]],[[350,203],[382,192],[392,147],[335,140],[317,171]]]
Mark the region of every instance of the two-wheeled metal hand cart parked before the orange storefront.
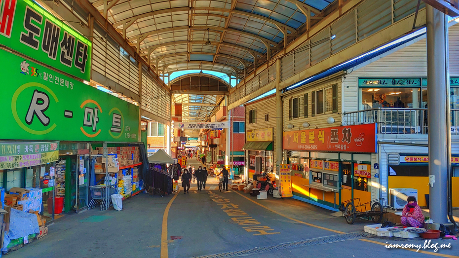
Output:
[[348,224],[353,224],[355,218],[380,223],[382,215],[387,213],[387,203],[384,198],[379,198],[360,204],[360,198],[354,198],[342,202],[339,210],[343,212],[343,217]]

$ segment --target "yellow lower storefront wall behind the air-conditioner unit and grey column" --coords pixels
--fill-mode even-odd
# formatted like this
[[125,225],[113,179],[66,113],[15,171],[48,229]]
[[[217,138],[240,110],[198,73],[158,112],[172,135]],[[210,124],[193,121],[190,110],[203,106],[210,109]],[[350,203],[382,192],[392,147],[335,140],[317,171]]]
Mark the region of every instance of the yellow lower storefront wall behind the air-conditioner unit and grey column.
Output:
[[[389,188],[414,188],[418,190],[418,205],[427,207],[424,194],[429,194],[428,177],[391,177],[389,176]],[[453,178],[453,207],[459,207],[459,177]],[[354,193],[355,194],[355,193]]]

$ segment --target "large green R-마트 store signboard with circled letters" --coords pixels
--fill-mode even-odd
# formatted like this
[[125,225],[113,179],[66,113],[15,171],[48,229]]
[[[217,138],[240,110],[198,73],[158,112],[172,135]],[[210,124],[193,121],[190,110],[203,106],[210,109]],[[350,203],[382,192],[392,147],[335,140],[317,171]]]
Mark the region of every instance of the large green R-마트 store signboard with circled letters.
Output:
[[139,107],[7,51],[0,60],[0,139],[138,142]]

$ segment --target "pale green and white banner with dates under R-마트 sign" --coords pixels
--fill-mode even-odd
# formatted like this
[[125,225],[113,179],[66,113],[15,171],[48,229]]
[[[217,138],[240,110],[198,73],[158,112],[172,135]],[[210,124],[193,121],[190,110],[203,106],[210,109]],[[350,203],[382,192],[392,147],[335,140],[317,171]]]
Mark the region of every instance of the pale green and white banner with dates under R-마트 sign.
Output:
[[38,166],[57,161],[59,142],[0,143],[0,169]]

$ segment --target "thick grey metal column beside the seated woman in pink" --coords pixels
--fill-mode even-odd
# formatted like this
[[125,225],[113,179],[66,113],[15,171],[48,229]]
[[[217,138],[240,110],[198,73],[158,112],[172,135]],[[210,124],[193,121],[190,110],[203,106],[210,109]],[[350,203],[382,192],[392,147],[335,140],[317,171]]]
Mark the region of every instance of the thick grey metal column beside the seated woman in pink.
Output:
[[447,21],[444,13],[426,5],[429,177],[435,181],[429,188],[429,208],[436,224],[448,222],[447,174],[451,167]]

